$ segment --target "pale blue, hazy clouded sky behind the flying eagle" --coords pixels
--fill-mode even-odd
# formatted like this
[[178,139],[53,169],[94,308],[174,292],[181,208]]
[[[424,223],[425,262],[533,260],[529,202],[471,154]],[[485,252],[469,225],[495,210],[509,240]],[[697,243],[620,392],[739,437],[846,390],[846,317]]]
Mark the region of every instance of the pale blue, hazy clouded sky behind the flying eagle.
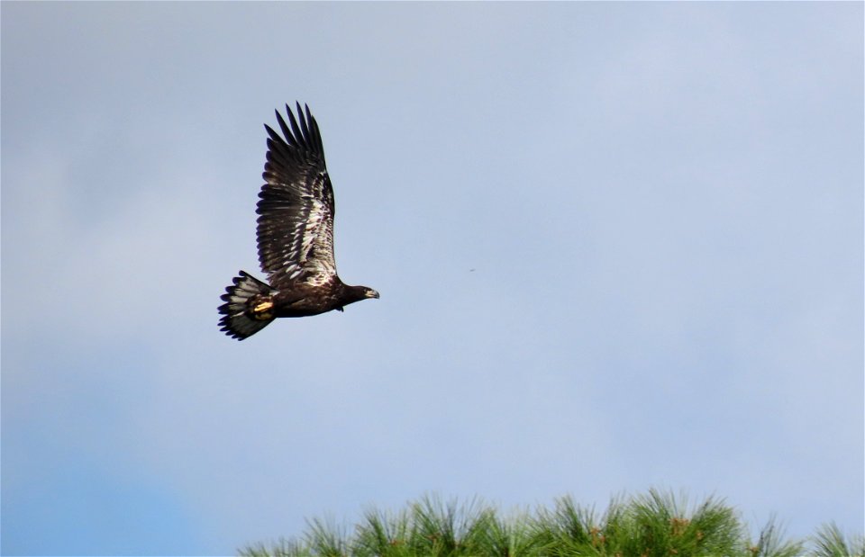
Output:
[[[2,4],[2,550],[426,492],[863,523],[861,3]],[[347,283],[238,343],[273,110]]]

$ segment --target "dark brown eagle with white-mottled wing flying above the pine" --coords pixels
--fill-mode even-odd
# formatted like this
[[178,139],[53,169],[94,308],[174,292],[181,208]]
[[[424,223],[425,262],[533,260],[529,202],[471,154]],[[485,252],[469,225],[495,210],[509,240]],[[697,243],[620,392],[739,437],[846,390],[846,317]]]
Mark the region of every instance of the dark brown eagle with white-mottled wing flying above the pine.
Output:
[[256,212],[259,264],[268,282],[241,271],[225,289],[220,330],[243,340],[280,317],[305,317],[378,298],[367,286],[342,283],[333,259],[333,188],[318,123],[297,103],[279,111],[282,136],[269,125],[268,155]]

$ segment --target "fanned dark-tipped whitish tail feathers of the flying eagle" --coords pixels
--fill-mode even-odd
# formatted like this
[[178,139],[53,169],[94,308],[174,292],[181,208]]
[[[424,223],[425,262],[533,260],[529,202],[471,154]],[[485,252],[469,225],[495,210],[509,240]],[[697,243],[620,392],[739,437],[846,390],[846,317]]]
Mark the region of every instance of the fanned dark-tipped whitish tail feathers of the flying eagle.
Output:
[[274,319],[272,311],[259,310],[260,305],[264,305],[259,305],[259,302],[262,299],[269,300],[277,292],[268,283],[262,283],[251,274],[241,271],[225,292],[222,296],[225,303],[219,306],[219,313],[223,316],[219,320],[219,327],[229,337],[238,340],[251,337]]

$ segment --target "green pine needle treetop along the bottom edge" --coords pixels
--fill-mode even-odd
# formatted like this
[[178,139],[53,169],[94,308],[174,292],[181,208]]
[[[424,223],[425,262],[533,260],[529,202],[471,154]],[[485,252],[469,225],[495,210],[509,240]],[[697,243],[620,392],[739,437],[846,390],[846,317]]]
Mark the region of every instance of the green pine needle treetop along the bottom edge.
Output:
[[[774,517],[750,539],[740,514],[709,497],[689,507],[687,496],[649,490],[610,501],[603,515],[571,497],[553,508],[503,516],[472,499],[460,504],[425,496],[396,514],[369,509],[351,534],[314,519],[304,535],[250,545],[246,557],[865,557],[861,536],[848,539],[833,524],[809,543],[785,539]],[[810,549],[808,549],[810,548]]]

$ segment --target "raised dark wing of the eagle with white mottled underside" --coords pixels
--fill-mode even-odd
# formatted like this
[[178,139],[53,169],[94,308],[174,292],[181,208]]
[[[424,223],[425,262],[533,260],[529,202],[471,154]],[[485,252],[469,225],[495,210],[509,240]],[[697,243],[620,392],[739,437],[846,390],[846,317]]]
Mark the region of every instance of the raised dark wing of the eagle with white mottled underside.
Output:
[[[336,275],[333,261],[333,189],[324,166],[322,136],[309,107],[286,105],[285,139],[267,124],[266,184],[259,193],[259,262],[276,288],[297,281],[323,283]],[[298,123],[299,121],[299,123]]]

